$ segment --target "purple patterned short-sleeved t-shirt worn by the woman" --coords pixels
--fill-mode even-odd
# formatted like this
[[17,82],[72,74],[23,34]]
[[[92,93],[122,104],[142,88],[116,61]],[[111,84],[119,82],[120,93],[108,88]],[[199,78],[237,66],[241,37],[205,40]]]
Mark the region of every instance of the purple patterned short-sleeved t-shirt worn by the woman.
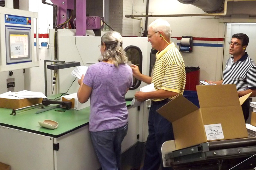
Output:
[[96,63],[87,69],[83,83],[92,87],[89,131],[115,129],[128,122],[125,102],[127,88],[131,87],[132,69],[127,64]]

